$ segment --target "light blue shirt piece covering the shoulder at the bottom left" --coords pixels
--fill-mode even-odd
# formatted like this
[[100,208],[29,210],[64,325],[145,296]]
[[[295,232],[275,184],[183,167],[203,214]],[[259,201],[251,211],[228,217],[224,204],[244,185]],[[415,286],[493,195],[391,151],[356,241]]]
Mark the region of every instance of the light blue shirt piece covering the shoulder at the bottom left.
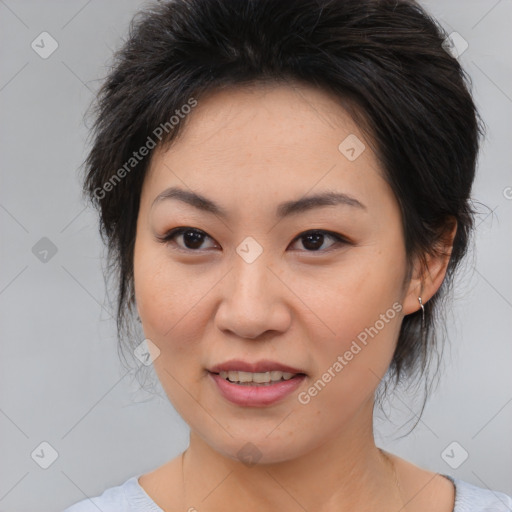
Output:
[[162,512],[133,476],[121,485],[106,489],[101,495],[79,501],[63,512]]

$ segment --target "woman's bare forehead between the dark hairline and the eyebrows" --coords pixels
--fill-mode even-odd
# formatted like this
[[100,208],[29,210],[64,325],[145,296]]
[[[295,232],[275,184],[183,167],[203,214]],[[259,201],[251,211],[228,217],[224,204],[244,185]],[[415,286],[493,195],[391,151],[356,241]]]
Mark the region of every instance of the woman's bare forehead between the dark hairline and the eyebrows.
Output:
[[[346,140],[360,152],[356,159],[343,153]],[[290,199],[315,188],[364,194],[372,184],[386,186],[368,142],[339,101],[313,87],[259,84],[213,91],[198,100],[180,137],[155,151],[145,189],[153,198],[178,184],[229,190],[233,200],[275,201],[283,191]]]

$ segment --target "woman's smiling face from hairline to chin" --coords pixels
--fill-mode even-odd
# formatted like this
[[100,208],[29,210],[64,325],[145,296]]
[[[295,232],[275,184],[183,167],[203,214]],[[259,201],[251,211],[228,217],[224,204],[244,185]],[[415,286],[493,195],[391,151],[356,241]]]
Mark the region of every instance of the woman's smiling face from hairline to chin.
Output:
[[[157,199],[170,188],[173,197]],[[325,194],[338,200],[318,200]],[[401,320],[418,306],[404,285],[399,207],[369,144],[333,99],[307,87],[198,102],[172,148],[153,155],[134,276],[176,410],[217,452],[262,463],[370,427]],[[230,383],[214,367],[233,360],[247,366],[227,369],[302,375]]]

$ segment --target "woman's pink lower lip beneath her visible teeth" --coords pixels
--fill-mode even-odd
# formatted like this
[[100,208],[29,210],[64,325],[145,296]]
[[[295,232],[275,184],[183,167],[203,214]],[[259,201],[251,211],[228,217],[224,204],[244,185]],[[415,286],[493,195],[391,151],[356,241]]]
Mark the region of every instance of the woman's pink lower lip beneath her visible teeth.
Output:
[[236,405],[246,407],[265,407],[272,405],[285,396],[293,393],[306,378],[305,375],[297,375],[290,380],[278,381],[275,384],[242,385],[229,382],[216,373],[209,372],[210,377],[216,383],[221,395]]

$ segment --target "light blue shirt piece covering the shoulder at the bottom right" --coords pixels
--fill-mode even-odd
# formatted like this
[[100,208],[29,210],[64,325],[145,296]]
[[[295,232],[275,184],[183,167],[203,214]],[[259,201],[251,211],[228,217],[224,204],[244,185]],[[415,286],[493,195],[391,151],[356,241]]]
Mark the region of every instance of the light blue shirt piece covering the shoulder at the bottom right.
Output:
[[453,512],[510,512],[512,497],[500,491],[483,489],[476,485],[445,475],[455,485]]

